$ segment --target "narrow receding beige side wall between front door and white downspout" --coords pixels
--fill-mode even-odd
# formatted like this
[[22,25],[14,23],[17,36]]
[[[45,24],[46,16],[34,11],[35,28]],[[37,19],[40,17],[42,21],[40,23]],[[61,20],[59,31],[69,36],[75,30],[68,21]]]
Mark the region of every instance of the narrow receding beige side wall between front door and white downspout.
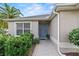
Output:
[[57,44],[57,39],[58,39],[58,19],[57,19],[57,16],[55,16],[51,20],[49,28],[50,28],[50,38],[55,44]]

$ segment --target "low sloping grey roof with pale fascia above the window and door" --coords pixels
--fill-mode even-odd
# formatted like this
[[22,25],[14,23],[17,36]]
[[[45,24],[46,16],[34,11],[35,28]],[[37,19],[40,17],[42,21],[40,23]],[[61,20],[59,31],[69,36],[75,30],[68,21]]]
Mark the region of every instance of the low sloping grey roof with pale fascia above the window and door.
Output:
[[28,17],[17,17],[13,19],[4,19],[6,21],[33,21],[33,20],[48,20],[50,17],[50,14],[44,14],[44,15],[36,15],[36,16],[28,16]]

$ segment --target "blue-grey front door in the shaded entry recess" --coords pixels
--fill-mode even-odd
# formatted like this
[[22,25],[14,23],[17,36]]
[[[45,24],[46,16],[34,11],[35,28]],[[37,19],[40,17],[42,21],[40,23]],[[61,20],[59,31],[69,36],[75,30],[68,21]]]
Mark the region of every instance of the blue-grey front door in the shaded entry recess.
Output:
[[40,23],[39,24],[39,38],[46,39],[47,34],[48,34],[48,24]]

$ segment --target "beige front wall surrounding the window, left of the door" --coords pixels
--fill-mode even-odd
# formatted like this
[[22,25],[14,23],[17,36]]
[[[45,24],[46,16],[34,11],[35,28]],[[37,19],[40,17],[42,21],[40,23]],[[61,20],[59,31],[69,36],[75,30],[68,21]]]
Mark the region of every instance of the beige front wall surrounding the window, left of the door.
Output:
[[9,34],[16,36],[16,23],[30,23],[30,32],[34,34],[34,37],[39,37],[39,35],[38,35],[38,21],[8,22]]

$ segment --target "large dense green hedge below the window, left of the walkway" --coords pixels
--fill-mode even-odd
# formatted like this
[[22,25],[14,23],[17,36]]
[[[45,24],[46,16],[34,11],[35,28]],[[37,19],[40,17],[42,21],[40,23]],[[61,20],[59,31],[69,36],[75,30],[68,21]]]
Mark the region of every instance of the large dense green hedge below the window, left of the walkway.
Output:
[[26,33],[19,37],[0,34],[1,56],[25,56],[32,47],[32,34]]

